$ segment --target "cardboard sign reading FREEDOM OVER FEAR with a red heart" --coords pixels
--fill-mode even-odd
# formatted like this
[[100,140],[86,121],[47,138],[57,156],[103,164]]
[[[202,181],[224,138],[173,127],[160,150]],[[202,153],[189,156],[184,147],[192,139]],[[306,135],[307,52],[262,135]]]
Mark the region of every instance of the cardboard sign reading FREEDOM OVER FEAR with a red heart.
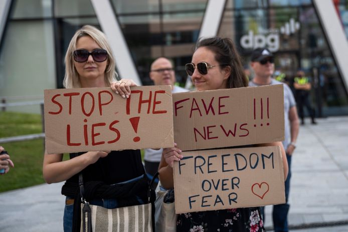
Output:
[[285,203],[279,146],[182,154],[173,168],[177,213]]

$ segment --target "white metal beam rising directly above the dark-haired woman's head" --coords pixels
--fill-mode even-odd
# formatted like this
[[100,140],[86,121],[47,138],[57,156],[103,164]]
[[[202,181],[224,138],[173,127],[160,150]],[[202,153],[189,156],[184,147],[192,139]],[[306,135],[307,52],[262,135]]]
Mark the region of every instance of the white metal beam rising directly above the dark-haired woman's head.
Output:
[[218,34],[226,0],[209,0],[204,14],[199,38]]

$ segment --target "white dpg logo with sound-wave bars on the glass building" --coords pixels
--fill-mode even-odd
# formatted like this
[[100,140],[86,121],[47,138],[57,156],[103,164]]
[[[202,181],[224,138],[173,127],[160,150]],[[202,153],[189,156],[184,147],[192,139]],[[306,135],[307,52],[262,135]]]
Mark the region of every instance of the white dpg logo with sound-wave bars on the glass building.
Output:
[[249,31],[248,35],[241,37],[240,45],[244,49],[257,49],[267,47],[271,52],[279,50],[279,34],[289,36],[297,32],[300,28],[299,22],[295,22],[293,18],[285,23],[279,29],[262,30],[260,34],[254,35],[253,31]]

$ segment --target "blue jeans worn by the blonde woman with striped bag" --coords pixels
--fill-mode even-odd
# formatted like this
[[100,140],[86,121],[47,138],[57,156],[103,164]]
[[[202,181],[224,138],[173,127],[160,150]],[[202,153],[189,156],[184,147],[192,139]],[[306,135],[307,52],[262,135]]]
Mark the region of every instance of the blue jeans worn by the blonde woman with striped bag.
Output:
[[[121,183],[128,183],[131,181],[135,181],[137,179],[142,178],[143,175],[136,177],[131,180],[127,180]],[[120,183],[117,183],[120,184]],[[139,204],[144,204],[143,200],[139,197],[136,196]],[[67,196],[66,199],[73,199],[72,197]],[[117,208],[118,207],[118,202],[116,199],[93,199],[89,202],[90,204],[94,205],[99,205],[103,206],[104,208]],[[74,214],[74,204],[65,204],[64,207],[64,215],[63,215],[63,228],[64,232],[71,232],[73,228],[73,214]]]

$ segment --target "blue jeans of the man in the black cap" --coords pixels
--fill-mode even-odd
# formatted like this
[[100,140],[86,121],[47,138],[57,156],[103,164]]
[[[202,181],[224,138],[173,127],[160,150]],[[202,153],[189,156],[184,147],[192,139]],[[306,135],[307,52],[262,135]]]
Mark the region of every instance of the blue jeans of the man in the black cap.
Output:
[[289,172],[285,180],[285,204],[273,205],[273,226],[274,232],[288,232],[288,212],[290,205],[288,204],[291,178],[291,155],[286,154]]

